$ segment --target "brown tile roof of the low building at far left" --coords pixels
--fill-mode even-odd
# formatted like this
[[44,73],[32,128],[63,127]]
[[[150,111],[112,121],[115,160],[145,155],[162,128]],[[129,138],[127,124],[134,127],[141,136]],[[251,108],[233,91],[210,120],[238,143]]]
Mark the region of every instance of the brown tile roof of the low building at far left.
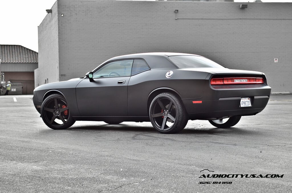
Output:
[[22,45],[0,45],[1,63],[38,63],[38,52]]

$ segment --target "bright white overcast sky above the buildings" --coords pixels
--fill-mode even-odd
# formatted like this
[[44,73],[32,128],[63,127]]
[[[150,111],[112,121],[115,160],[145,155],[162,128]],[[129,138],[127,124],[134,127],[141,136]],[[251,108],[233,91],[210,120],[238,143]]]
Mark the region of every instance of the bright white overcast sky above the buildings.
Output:
[[[56,0],[0,0],[0,44],[22,45],[38,52],[37,27],[46,16],[46,9],[51,9],[55,1]],[[234,1],[253,2],[253,0]],[[292,0],[262,1],[292,2]]]

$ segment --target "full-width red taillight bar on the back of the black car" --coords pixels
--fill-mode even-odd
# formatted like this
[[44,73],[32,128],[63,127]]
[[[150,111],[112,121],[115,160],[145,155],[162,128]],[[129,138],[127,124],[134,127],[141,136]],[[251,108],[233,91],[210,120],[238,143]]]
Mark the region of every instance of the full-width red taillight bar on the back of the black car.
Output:
[[212,78],[211,85],[237,85],[237,84],[263,84],[263,78],[234,77],[234,78]]

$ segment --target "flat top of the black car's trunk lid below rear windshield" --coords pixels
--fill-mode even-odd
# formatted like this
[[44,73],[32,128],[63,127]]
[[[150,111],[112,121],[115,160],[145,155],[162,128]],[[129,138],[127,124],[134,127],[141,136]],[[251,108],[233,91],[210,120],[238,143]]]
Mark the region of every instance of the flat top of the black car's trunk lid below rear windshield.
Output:
[[228,68],[189,68],[189,69],[184,69],[184,70],[208,72],[211,74],[263,74],[257,71],[235,70],[235,69],[228,69]]

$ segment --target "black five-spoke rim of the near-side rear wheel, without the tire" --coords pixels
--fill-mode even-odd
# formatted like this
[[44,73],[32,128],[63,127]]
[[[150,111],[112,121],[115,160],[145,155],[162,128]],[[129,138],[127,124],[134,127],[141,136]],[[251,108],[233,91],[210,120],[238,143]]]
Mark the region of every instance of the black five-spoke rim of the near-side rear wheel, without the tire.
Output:
[[161,131],[167,131],[173,127],[177,117],[175,104],[167,97],[158,97],[153,101],[150,119]]

